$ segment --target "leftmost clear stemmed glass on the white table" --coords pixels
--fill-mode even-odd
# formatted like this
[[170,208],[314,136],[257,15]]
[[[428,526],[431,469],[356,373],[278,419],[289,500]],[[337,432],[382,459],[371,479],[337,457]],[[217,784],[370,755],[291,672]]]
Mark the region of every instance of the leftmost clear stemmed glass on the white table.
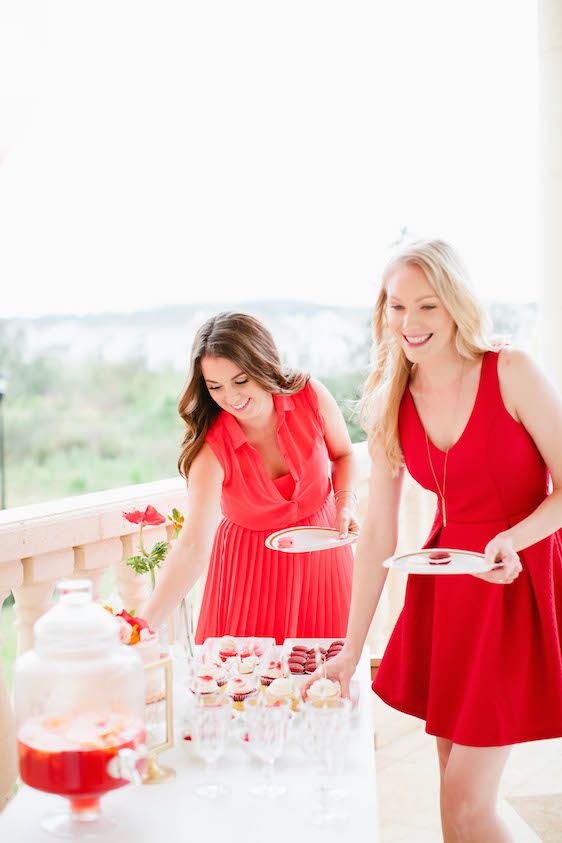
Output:
[[230,703],[223,697],[216,697],[212,703],[201,701],[193,707],[191,715],[192,745],[206,764],[204,781],[195,788],[195,793],[204,799],[226,796],[230,788],[215,780],[214,770],[226,745],[232,716]]

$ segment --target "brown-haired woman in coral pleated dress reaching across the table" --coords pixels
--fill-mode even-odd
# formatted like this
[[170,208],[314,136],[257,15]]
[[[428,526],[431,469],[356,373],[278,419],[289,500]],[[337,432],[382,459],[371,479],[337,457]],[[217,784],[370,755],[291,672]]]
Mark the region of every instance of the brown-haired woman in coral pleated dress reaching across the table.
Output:
[[318,381],[283,369],[271,334],[253,316],[220,313],[197,332],[179,412],[185,524],[147,620],[158,625],[210,558],[198,643],[343,635],[351,548],[287,554],[265,546],[284,527],[336,527],[342,538],[357,529],[355,461],[334,398]]

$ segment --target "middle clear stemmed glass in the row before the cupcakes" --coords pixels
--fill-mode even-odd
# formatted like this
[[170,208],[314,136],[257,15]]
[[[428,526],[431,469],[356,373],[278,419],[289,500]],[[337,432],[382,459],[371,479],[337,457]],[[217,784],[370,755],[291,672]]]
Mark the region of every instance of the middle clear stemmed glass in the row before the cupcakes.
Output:
[[263,781],[251,788],[254,796],[275,799],[287,787],[275,781],[274,765],[285,746],[290,709],[286,704],[257,705],[248,717],[248,737],[252,751],[263,761]]

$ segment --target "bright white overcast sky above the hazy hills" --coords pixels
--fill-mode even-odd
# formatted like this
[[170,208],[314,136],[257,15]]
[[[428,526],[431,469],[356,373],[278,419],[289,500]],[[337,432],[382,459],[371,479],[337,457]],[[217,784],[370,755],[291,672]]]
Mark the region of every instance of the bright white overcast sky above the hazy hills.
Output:
[[0,0],[2,314],[537,286],[531,0]]

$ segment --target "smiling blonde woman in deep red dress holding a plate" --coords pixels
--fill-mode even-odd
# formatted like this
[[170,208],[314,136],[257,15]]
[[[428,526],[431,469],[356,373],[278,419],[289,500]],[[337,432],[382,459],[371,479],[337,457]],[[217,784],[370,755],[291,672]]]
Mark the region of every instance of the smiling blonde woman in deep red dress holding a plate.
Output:
[[561,401],[526,354],[494,348],[442,241],[392,259],[374,339],[369,507],[346,644],[328,673],[346,693],[396,547],[405,465],[437,495],[426,546],[503,565],[409,576],[373,689],[437,738],[446,843],[507,841],[496,798],[511,745],[562,735]]

